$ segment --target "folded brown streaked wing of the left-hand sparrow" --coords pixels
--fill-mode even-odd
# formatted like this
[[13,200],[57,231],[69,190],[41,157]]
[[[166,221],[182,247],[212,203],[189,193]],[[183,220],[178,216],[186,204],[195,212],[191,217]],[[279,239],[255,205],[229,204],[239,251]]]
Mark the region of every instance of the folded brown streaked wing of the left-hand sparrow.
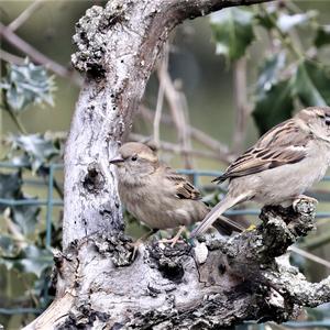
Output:
[[168,187],[167,191],[175,195],[179,199],[201,199],[200,191],[191,185],[187,177],[176,173],[167,166],[162,166],[161,170],[164,175],[164,185]]

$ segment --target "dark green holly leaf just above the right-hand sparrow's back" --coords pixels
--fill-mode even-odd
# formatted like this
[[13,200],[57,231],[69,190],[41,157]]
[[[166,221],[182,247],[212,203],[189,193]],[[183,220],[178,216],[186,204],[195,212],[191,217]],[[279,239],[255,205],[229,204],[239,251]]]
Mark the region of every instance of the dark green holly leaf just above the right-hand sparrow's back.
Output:
[[256,95],[253,118],[260,134],[292,117],[294,99],[289,80],[274,84],[268,90]]

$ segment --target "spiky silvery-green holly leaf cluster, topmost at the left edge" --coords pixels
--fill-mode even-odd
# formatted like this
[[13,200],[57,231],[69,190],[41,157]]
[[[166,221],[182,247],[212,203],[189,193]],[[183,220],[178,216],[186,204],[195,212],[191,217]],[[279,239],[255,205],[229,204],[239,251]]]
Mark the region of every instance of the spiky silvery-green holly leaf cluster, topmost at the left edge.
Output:
[[9,64],[7,72],[0,87],[11,110],[19,113],[32,103],[54,105],[54,78],[47,75],[43,66],[26,59],[22,65]]

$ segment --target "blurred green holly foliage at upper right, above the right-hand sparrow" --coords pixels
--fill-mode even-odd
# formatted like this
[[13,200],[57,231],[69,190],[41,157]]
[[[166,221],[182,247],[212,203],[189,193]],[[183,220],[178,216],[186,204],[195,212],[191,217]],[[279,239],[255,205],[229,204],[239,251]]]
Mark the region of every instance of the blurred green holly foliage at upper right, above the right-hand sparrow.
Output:
[[[264,29],[274,45],[272,55],[261,61],[254,98],[253,118],[261,134],[292,117],[296,103],[326,106],[329,98],[329,64],[321,64],[318,47],[329,43],[327,28],[317,20],[318,12],[293,12],[290,8],[260,6],[257,9],[224,9],[211,16],[217,53],[234,62],[249,56],[254,30]],[[297,47],[289,34],[304,40],[309,29],[315,37],[309,44]],[[276,44],[276,45],[275,45]],[[312,55],[309,56],[309,53]]]

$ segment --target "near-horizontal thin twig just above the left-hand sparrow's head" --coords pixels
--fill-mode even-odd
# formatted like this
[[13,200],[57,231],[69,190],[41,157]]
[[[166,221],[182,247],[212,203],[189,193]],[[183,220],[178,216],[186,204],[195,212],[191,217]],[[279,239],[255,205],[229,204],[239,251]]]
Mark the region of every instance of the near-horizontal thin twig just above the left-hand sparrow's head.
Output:
[[[139,141],[143,143],[150,142],[152,139],[151,136],[145,136],[136,133],[131,133],[130,134],[130,140],[131,141]],[[183,148],[180,145],[170,143],[167,141],[161,141],[160,142],[160,148],[166,152],[172,152],[177,155],[191,155],[195,157],[200,157],[200,158],[208,158],[208,160],[217,160],[221,161],[220,156],[215,153],[215,152],[209,152],[209,151],[202,151],[202,150],[191,150],[191,148]]]

